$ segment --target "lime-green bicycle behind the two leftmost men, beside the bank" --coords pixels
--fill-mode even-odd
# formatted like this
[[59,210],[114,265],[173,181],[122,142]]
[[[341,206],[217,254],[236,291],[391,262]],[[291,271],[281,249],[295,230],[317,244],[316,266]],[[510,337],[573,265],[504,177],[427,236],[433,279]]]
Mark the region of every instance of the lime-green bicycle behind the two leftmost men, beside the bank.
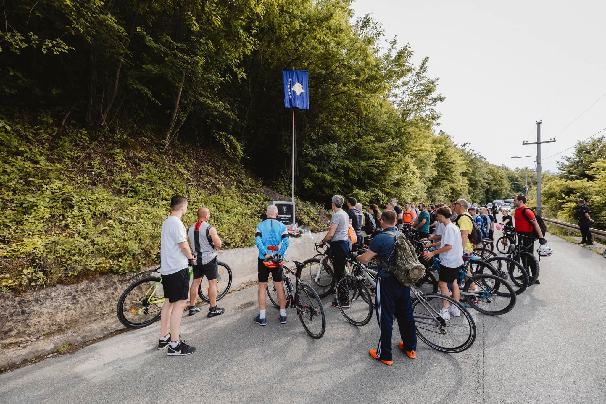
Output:
[[[217,301],[227,294],[231,287],[231,268],[225,262],[218,262],[219,276],[217,277]],[[162,278],[159,276],[160,267],[155,270],[146,270],[136,273],[128,280],[133,280],[144,273],[157,273],[158,276],[147,276],[138,279],[128,285],[120,299],[116,314],[122,325],[128,328],[142,328],[156,322],[160,318],[162,305],[164,305],[164,288],[162,287]],[[193,274],[193,268],[190,270],[190,277]],[[198,287],[198,296],[204,302],[210,302],[208,299],[208,280],[206,277]]]

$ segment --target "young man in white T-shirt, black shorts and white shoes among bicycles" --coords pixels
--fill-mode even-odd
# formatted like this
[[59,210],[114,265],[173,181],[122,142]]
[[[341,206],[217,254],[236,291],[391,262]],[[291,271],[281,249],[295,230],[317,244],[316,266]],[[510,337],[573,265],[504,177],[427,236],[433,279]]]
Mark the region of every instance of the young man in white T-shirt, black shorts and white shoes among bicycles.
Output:
[[[459,269],[463,266],[463,245],[461,243],[461,230],[457,225],[450,222],[450,216],[452,213],[450,208],[441,207],[436,210],[438,216],[438,222],[444,224],[444,234],[439,242],[440,248],[436,251],[428,251],[423,254],[423,257],[430,260],[431,257],[436,254],[440,254],[440,277],[438,279],[438,286],[442,292],[448,296],[448,284],[452,290],[452,297],[457,302],[461,297],[461,291],[459,291],[459,284],[457,278],[459,277]],[[438,243],[431,244],[430,246],[437,246]],[[444,320],[450,320],[450,316],[459,317],[461,312],[455,306],[450,306],[446,300],[442,303],[442,310],[440,316]]]

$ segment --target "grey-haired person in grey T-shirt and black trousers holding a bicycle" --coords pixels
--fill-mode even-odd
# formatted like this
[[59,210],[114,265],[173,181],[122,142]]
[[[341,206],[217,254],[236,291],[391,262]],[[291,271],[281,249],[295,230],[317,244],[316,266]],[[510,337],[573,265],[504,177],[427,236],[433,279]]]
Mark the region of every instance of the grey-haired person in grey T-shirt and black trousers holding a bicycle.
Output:
[[[345,276],[345,263],[351,258],[351,241],[347,236],[349,227],[349,216],[342,209],[344,198],[341,195],[333,196],[331,208],[333,217],[330,220],[330,227],[320,245],[330,242],[330,252],[332,254],[333,271],[335,272],[335,285]],[[337,299],[333,300],[333,306],[339,307]],[[349,307],[349,302],[341,302],[341,306]]]

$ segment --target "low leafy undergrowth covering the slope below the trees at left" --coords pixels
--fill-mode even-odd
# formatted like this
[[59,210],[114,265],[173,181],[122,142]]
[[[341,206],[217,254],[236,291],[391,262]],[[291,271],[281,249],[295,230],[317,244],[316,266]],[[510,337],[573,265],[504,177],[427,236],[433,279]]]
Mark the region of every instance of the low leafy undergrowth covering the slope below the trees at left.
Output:
[[[59,130],[48,122],[0,128],[0,287],[70,282],[158,262],[162,221],[174,194],[211,209],[225,248],[254,245],[269,199],[241,166],[204,151],[158,153],[150,136]],[[299,223],[320,229],[299,205]],[[322,226],[322,228],[324,228]]]

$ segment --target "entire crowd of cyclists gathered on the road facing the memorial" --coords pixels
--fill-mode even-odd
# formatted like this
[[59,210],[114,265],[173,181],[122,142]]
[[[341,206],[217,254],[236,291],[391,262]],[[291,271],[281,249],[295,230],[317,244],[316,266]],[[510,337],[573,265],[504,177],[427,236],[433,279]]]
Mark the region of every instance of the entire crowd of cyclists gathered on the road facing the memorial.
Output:
[[[514,220],[507,210],[502,210],[502,224],[514,228],[521,234],[531,234],[531,238],[520,237],[527,251],[532,251],[534,240],[541,244],[547,242],[536,223],[536,218],[530,208],[525,207],[526,197],[518,195],[514,198],[516,211]],[[160,339],[158,349],[168,348],[169,356],[182,356],[195,352],[193,346],[187,345],[179,334],[182,312],[190,301],[189,314],[199,313],[196,306],[196,290],[203,276],[208,279],[208,297],[210,308],[208,317],[224,313],[216,305],[218,258],[216,249],[221,247],[221,239],[215,227],[208,224],[210,209],[198,209],[198,220],[188,230],[181,220],[187,211],[188,201],[183,196],[174,196],[170,202],[171,214],[164,220],[161,231],[161,268],[162,285],[167,302],[162,306],[160,322]],[[347,208],[347,211],[344,210]],[[406,202],[404,207],[393,198],[379,210],[378,205],[370,204],[367,210],[359,204],[355,197],[349,197],[345,203],[344,197],[335,195],[331,198],[333,215],[327,234],[321,245],[330,242],[331,263],[335,284],[345,276],[347,260],[378,262],[378,280],[376,285],[376,311],[379,322],[379,343],[377,348],[369,353],[375,359],[391,365],[391,334],[393,320],[398,319],[402,342],[399,348],[410,358],[416,357],[416,329],[412,312],[410,287],[400,283],[393,275],[391,268],[395,265],[395,237],[399,232],[416,231],[422,241],[427,241],[425,248],[436,247],[435,251],[427,251],[425,259],[439,254],[441,260],[438,285],[444,294],[450,294],[459,299],[460,293],[456,277],[463,265],[464,256],[473,252],[476,240],[471,237],[474,232],[481,231],[482,238],[493,239],[494,224],[497,222],[496,212],[487,207],[476,208],[467,200],[458,199],[447,206],[446,204],[415,204]],[[286,297],[282,282],[282,270],[267,265],[267,260],[276,254],[284,256],[289,245],[288,230],[279,222],[278,208],[270,205],[265,212],[267,219],[258,224],[255,231],[255,243],[258,248],[258,302],[259,313],[253,320],[255,323],[267,325],[266,290],[269,275],[273,277],[280,307],[279,322],[287,322],[285,310]],[[588,216],[588,215],[587,215]],[[411,230],[412,229],[412,230]],[[371,239],[370,245],[362,254],[365,237]],[[193,283],[190,287],[190,271],[193,267]],[[538,281],[536,283],[539,283]],[[333,291],[334,292],[334,291]],[[472,300],[473,303],[473,300]],[[348,302],[341,302],[347,307]],[[333,306],[338,307],[337,299]],[[440,316],[450,319],[461,314],[454,306],[442,308]],[[170,332],[169,332],[170,331]]]

